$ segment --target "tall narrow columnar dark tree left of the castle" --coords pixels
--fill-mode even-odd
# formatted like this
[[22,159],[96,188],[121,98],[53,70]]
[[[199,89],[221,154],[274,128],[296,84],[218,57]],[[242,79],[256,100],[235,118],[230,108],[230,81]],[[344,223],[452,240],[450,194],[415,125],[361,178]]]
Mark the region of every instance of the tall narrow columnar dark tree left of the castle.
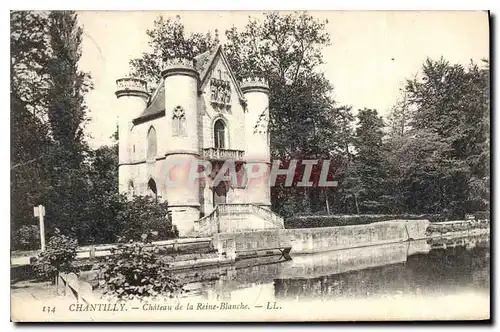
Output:
[[54,152],[49,159],[49,183],[45,202],[50,227],[69,232],[78,227],[88,199],[88,155],[84,127],[88,121],[84,96],[91,88],[90,75],[80,71],[82,28],[77,14],[53,11],[48,17],[50,48],[48,65],[48,123]]

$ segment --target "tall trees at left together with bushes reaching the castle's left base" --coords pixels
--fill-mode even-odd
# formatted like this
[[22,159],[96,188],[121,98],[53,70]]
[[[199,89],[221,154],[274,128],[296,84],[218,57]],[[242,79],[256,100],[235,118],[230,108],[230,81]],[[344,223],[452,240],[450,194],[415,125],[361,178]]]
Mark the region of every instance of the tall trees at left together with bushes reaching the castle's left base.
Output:
[[81,39],[74,12],[11,12],[13,249],[39,248],[39,204],[48,238],[56,228],[81,245],[139,240],[143,232],[175,236],[166,203],[118,194],[116,141],[96,150],[87,144],[84,96],[92,83],[78,68]]

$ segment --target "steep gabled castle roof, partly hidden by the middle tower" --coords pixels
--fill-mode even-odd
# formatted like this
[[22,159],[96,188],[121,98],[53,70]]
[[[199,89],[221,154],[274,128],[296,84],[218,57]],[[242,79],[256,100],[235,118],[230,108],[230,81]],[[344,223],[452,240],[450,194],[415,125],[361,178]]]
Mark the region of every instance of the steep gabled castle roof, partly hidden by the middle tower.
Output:
[[[195,68],[200,75],[200,84],[198,89],[203,89],[205,84],[208,82],[210,70],[215,66],[215,60],[217,56],[220,56],[224,65],[229,69],[229,76],[233,81],[233,85],[236,87],[236,92],[240,99],[244,99],[243,92],[240,89],[240,85],[234,76],[233,70],[227,61],[224,54],[222,46],[219,44],[216,47],[197,55],[195,59]],[[133,122],[135,124],[145,122],[156,117],[161,117],[165,115],[165,82],[163,79],[158,83],[158,87],[151,96],[148,106],[142,112],[140,116],[135,118]]]

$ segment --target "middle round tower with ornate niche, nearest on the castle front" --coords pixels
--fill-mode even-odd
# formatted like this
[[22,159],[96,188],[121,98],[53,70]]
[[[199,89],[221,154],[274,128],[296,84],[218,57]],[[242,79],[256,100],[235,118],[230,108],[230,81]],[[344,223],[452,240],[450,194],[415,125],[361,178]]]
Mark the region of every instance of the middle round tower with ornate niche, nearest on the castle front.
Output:
[[[180,236],[193,232],[200,218],[199,183],[189,179],[193,164],[200,156],[198,115],[199,74],[193,59],[166,61],[162,71],[165,84],[165,196],[172,222]],[[172,184],[172,182],[179,182]]]

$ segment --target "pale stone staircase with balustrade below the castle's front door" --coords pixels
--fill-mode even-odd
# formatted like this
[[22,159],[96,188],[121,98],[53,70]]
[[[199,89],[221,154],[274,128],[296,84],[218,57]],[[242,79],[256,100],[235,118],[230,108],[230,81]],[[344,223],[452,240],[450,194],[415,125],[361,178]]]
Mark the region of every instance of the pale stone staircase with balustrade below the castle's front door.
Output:
[[220,204],[195,222],[197,236],[271,228],[284,228],[283,218],[254,204]]

